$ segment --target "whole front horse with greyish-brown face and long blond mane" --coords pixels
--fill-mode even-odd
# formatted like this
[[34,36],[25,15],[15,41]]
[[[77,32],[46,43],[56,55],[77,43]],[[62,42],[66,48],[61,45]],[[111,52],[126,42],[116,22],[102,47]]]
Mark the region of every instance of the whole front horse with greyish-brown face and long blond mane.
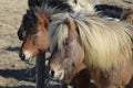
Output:
[[85,13],[59,13],[49,24],[50,75],[71,81],[85,64],[98,88],[124,88],[133,76],[133,28]]

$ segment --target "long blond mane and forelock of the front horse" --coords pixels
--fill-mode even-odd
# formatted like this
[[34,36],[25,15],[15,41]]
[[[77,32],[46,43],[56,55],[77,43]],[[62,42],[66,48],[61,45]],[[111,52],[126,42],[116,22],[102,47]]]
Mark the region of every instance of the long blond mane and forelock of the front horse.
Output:
[[84,46],[85,64],[103,70],[123,65],[132,58],[133,28],[126,23],[102,20],[90,14],[59,13],[49,25],[50,48],[62,48],[68,37],[66,18],[72,18]]

